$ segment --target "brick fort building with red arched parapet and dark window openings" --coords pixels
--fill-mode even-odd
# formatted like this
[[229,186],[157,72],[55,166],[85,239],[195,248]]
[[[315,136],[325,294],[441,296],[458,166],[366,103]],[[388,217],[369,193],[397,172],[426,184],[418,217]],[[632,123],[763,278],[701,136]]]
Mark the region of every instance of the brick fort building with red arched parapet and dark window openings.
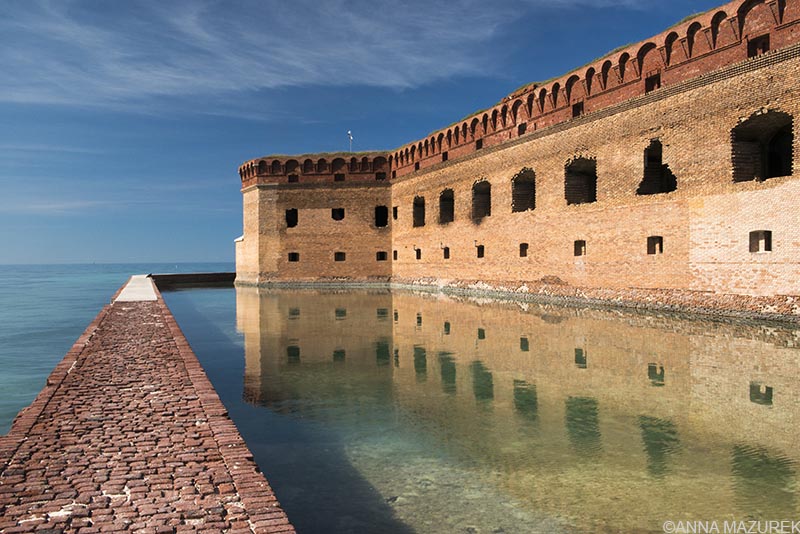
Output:
[[391,152],[249,161],[237,283],[800,315],[798,22],[800,0],[731,2]]

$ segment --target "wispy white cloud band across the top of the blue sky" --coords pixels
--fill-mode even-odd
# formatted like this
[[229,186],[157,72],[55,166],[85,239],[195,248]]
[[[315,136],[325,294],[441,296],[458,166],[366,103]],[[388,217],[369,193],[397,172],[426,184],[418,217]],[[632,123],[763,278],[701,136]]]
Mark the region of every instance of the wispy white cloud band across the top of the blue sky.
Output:
[[521,11],[644,1],[6,0],[0,101],[144,109],[281,87],[417,87],[491,72],[484,45]]

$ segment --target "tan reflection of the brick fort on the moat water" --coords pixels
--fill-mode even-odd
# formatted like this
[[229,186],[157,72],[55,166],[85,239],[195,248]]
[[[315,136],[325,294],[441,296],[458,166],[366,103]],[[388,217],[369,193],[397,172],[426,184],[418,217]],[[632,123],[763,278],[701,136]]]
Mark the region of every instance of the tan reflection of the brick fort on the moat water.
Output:
[[[798,511],[800,330],[253,288],[237,289],[237,320],[251,402],[291,412],[304,397],[391,398],[540,509],[602,510],[617,526],[677,517],[670,510],[706,519]],[[342,396],[293,366],[354,366],[369,386]]]

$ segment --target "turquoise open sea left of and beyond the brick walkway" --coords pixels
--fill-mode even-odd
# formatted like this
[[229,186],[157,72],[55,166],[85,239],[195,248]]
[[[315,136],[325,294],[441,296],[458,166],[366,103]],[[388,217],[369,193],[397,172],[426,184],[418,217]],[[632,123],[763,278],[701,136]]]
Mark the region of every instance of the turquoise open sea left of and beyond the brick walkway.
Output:
[[131,275],[233,270],[233,262],[0,265],[0,435]]

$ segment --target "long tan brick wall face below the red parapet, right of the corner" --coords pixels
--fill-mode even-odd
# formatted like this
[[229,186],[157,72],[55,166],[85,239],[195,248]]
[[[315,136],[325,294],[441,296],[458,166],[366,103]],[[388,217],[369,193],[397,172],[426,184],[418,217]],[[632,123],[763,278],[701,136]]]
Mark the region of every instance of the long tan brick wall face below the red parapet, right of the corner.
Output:
[[[557,277],[584,287],[798,293],[797,172],[733,183],[731,130],[762,109],[796,116],[800,100],[793,80],[799,69],[795,58],[734,72],[609,117],[587,117],[550,135],[395,180],[393,275],[487,282]],[[637,195],[651,139],[663,144],[663,163],[675,175],[677,190]],[[596,202],[566,205],[564,167],[576,156],[597,162]],[[536,173],[536,207],[512,213],[511,180],[523,168]],[[480,223],[471,220],[478,180],[492,184],[491,216]],[[455,221],[440,225],[438,198],[445,189],[455,194]],[[412,225],[418,196],[425,197],[424,227]],[[749,252],[753,230],[772,231],[772,252]],[[647,253],[649,236],[663,238],[662,254]],[[576,240],[586,241],[585,256],[574,255]],[[519,257],[520,243],[529,244],[525,258]],[[483,258],[477,257],[477,245],[484,246]],[[442,247],[449,247],[449,260]]]

